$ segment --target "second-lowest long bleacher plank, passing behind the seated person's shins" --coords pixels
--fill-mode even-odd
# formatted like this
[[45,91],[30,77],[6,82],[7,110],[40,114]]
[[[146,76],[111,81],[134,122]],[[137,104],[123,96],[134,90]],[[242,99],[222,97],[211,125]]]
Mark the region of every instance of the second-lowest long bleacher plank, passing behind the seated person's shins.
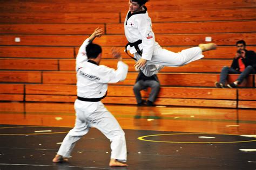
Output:
[[[150,91],[142,91],[148,97]],[[76,95],[76,85],[26,84],[28,95]],[[134,97],[133,86],[109,86],[107,96]],[[198,98],[236,100],[236,89],[161,87],[159,98]]]

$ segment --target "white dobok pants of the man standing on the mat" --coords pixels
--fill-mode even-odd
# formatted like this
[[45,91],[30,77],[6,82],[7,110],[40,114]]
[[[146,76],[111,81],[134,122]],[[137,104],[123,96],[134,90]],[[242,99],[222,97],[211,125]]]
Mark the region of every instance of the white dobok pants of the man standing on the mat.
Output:
[[104,107],[102,102],[83,102],[76,100],[76,123],[63,140],[57,154],[70,157],[76,142],[90,128],[97,128],[111,141],[111,159],[126,161],[125,133],[116,118]]

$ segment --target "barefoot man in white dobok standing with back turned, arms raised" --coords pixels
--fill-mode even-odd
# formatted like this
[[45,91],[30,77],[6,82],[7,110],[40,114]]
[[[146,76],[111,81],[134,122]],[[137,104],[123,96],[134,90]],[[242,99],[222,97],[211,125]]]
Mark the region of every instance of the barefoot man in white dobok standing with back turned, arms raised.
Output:
[[125,133],[116,118],[100,101],[107,94],[107,83],[117,83],[126,79],[128,66],[122,62],[120,52],[112,49],[112,55],[118,60],[117,69],[99,65],[102,48],[93,44],[96,37],[102,36],[103,29],[96,29],[79,48],[76,58],[77,100],[75,101],[76,123],[63,140],[53,162],[66,161],[76,142],[91,127],[100,130],[111,141],[111,159],[109,166],[127,166]]

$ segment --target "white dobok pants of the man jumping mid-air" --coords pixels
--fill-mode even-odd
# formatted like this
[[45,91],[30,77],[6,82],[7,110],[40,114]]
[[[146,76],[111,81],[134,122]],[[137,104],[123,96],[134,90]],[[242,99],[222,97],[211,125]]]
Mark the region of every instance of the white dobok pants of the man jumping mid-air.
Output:
[[[156,45],[151,61],[146,62],[146,66],[141,68],[142,72],[146,76],[152,76],[157,74],[161,68],[167,67],[179,67],[184,66],[192,61],[199,60],[204,57],[200,47],[193,47],[184,49],[179,53],[171,52],[167,49],[161,48]],[[134,53],[134,58],[137,61],[142,58],[138,53]]]

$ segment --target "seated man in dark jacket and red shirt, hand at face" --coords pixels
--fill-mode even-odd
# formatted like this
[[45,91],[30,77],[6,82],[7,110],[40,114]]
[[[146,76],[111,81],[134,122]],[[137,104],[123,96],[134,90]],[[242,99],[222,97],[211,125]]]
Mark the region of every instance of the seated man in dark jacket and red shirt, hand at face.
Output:
[[249,74],[254,74],[254,69],[256,68],[254,51],[247,51],[244,40],[237,41],[237,49],[237,54],[235,54],[231,67],[223,67],[220,73],[220,81],[215,82],[215,87],[225,88],[228,74],[240,74],[236,81],[227,84],[228,88],[236,88]]

